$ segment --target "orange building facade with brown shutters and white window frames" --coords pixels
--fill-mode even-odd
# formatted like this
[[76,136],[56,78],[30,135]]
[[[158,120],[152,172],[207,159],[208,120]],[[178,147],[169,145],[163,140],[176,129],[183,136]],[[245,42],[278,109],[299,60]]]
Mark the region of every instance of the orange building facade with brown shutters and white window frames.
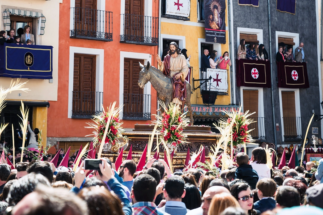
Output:
[[126,130],[151,123],[150,83],[138,87],[139,63],[156,64],[159,1],[63,0],[59,7],[57,101],[49,101],[47,144],[72,151],[89,142],[91,115],[123,105]]

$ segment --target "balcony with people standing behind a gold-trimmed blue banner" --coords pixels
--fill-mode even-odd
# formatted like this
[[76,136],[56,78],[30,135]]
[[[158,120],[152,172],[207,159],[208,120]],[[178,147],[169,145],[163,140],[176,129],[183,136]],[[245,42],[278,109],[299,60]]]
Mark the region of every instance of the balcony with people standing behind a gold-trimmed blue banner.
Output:
[[15,29],[0,31],[0,77],[52,79],[53,47],[36,45],[30,26],[15,35]]

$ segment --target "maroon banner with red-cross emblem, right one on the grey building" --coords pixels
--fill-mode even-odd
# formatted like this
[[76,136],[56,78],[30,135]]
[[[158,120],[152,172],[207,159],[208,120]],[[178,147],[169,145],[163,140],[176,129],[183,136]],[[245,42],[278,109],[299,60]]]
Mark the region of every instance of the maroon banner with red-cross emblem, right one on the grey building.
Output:
[[278,87],[308,88],[306,63],[276,62]]

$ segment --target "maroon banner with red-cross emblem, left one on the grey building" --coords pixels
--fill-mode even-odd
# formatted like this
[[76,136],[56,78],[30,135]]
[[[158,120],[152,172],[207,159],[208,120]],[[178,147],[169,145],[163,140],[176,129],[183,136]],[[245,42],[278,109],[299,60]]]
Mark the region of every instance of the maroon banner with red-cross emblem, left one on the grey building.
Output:
[[236,59],[237,86],[271,87],[269,61]]

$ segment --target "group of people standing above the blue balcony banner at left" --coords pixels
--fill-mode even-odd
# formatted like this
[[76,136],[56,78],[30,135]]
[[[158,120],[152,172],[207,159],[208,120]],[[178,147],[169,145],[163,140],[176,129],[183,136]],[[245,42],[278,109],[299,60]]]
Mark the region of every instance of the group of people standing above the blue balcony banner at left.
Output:
[[5,43],[35,45],[35,36],[30,33],[29,25],[25,25],[24,28],[19,28],[17,35],[15,29],[11,28],[8,34],[6,31],[0,31],[0,45]]

